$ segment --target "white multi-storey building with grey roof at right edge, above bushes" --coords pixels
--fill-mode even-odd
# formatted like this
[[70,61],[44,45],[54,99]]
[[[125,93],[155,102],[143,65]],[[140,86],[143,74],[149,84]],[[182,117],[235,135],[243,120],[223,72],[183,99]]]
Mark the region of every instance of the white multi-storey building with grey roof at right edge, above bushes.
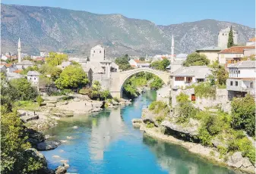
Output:
[[229,100],[234,97],[245,97],[246,94],[255,96],[255,61],[240,61],[229,64],[229,79],[226,80]]

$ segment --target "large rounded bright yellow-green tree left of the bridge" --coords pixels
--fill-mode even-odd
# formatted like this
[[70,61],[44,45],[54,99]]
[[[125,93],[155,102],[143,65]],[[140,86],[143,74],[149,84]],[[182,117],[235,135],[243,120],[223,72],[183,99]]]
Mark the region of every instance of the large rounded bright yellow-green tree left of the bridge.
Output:
[[80,66],[66,67],[55,81],[58,89],[77,89],[87,84],[87,74]]

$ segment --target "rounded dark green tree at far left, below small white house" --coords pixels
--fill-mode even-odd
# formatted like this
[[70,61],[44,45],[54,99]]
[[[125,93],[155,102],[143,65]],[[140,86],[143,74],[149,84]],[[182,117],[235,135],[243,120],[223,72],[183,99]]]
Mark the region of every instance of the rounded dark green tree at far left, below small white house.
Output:
[[15,93],[15,100],[29,101],[37,96],[36,88],[31,86],[31,83],[24,78],[10,80],[10,88],[12,93]]

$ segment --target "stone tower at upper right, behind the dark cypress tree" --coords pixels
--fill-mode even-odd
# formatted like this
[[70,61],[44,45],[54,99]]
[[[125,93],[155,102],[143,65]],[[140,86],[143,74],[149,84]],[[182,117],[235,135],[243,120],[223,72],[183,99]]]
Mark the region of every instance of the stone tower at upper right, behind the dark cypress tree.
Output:
[[[220,30],[219,35],[218,35],[218,47],[220,47],[222,49],[227,48],[228,39],[229,39],[229,31],[230,31],[230,27]],[[239,34],[238,32],[233,30],[233,40],[234,40],[235,45],[237,44],[238,34]]]

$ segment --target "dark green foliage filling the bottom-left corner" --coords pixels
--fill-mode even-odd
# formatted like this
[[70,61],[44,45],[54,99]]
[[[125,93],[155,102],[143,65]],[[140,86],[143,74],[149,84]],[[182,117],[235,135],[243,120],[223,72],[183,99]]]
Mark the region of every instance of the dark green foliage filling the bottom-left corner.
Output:
[[17,112],[8,113],[1,107],[1,173],[37,173],[43,163],[33,156],[28,157],[23,123]]

